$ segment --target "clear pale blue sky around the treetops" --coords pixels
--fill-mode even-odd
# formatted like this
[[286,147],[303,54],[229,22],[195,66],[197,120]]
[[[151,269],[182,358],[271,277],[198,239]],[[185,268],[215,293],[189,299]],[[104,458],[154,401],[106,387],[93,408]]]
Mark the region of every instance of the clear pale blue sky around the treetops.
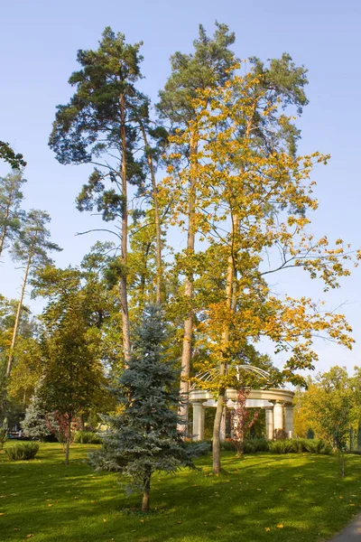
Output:
[[[357,92],[361,3],[358,0],[16,0],[0,9],[0,139],[23,153],[28,166],[25,208],[48,210],[52,238],[64,248],[60,266],[77,265],[97,240],[95,234],[75,233],[96,227],[96,220],[75,209],[74,200],[87,179],[87,166],[58,164],[47,143],[55,106],[69,100],[67,81],[77,69],[78,49],[97,47],[105,26],[125,33],[128,42],[143,41],[143,89],[157,99],[170,73],[170,55],[190,51],[202,23],[213,33],[214,22],[227,23],[236,33],[234,51],[242,59],[279,57],[289,52],[309,69],[301,152],[330,153],[327,167],[314,174],[319,210],[316,234],[344,238],[361,246],[361,136]],[[0,164],[0,175],[8,172]],[[103,236],[103,239],[104,236]],[[179,240],[175,240],[179,243]],[[0,293],[17,296],[21,270],[5,259],[0,269]],[[346,365],[352,372],[361,361],[361,268],[342,287],[325,297],[328,308],[342,311],[354,328],[352,352],[319,341],[318,369]],[[313,295],[321,291],[300,273],[274,278],[278,292]],[[39,302],[27,302],[34,311]],[[266,348],[266,346],[264,346]],[[282,359],[277,363],[281,363]]]

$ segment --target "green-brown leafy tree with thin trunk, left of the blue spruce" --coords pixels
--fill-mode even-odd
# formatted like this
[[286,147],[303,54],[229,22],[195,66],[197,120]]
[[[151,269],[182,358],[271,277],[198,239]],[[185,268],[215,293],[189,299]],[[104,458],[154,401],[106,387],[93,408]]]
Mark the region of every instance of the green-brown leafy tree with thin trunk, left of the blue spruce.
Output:
[[[97,292],[81,283],[76,269],[47,267],[37,276],[35,294],[49,296],[42,313],[43,379],[40,395],[47,412],[67,420],[65,463],[69,463],[71,421],[106,394],[101,363]],[[104,390],[104,391],[103,391]]]

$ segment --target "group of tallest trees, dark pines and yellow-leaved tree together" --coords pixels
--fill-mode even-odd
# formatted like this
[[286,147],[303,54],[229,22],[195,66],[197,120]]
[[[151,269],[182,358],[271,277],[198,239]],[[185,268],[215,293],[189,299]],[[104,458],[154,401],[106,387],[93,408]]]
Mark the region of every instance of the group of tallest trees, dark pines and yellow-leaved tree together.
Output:
[[[234,41],[224,24],[213,38],[200,27],[194,51],[171,57],[154,115],[139,89],[141,43],[106,28],[97,50],[79,51],[69,79],[75,92],[58,107],[50,139],[61,164],[94,164],[78,208],[97,210],[119,238],[111,269],[125,365],[132,322],[156,300],[178,329],[183,396],[196,367],[218,368],[215,472],[229,369],[252,362],[255,342],[265,336],[289,356],[281,379],[294,384],[302,381],[297,370],[317,360],[314,334],[352,344],[343,315],[320,312],[307,297],[276,296],[267,282],[294,267],[335,288],[351,257],[342,239],[332,248],[310,234],[312,168],[329,156],[297,154],[293,116],[307,104],[306,70],[287,54],[240,63]],[[187,244],[170,262],[166,243],[177,231]],[[187,419],[187,405],[181,414]]]

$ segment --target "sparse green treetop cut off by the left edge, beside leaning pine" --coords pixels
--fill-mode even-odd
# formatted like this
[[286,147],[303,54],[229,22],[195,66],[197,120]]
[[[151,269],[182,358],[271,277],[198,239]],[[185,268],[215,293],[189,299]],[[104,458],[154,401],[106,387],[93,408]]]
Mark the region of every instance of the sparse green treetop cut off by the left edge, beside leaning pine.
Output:
[[0,257],[6,248],[5,242],[12,242],[22,225],[24,211],[21,209],[23,174],[8,173],[0,177]]

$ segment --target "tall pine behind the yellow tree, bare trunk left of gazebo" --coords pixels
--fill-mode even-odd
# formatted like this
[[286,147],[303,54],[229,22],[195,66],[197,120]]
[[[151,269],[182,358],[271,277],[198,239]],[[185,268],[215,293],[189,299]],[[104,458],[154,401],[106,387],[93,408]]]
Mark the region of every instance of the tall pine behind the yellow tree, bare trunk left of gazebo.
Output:
[[[163,119],[171,123],[172,132],[187,133],[187,140],[182,140],[180,164],[182,167],[181,190],[186,194],[185,201],[178,204],[178,191],[169,194],[168,201],[175,206],[175,212],[181,213],[180,225],[187,231],[185,255],[194,259],[196,235],[198,231],[197,204],[199,199],[199,133],[195,123],[197,106],[194,99],[199,90],[216,88],[228,78],[235,57],[229,47],[235,42],[235,34],[230,33],[226,24],[216,23],[216,31],[210,38],[204,27],[199,25],[199,39],[193,42],[194,51],[186,54],[180,51],[171,56],[171,76],[164,89],[160,91],[158,111]],[[171,166],[172,167],[172,166]],[[171,220],[174,223],[174,220]],[[192,334],[194,320],[193,303],[193,266],[182,268],[184,275],[184,313],[181,351],[180,394],[188,397],[192,355]],[[188,420],[187,401],[180,406],[180,416]],[[183,426],[183,430],[187,425]]]

